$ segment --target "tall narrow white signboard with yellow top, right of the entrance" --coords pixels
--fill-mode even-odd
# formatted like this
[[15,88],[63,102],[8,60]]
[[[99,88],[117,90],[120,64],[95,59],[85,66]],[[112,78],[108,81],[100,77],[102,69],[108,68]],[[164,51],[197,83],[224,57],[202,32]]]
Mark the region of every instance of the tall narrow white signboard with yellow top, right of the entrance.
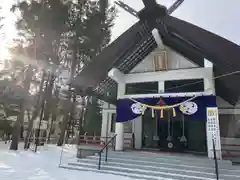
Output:
[[208,145],[208,157],[213,158],[213,141],[215,143],[217,157],[222,158],[221,153],[221,140],[219,129],[218,108],[207,108],[207,145]]

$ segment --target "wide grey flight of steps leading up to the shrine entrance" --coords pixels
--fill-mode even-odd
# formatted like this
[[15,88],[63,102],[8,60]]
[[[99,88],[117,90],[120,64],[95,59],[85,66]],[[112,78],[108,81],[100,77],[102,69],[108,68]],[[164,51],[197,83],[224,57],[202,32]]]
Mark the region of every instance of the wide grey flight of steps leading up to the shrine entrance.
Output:
[[[215,180],[214,161],[193,155],[147,152],[112,152],[105,162],[102,154],[101,170],[98,170],[98,155],[71,160],[62,168],[110,173],[146,180]],[[230,161],[218,161],[221,180],[239,180],[240,167]]]

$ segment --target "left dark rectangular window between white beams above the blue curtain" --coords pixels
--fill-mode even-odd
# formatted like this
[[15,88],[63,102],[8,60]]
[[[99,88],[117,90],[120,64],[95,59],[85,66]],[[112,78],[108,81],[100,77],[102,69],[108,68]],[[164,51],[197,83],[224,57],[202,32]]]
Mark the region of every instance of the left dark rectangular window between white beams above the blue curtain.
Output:
[[129,94],[157,94],[158,82],[128,83],[126,84],[126,95]]

